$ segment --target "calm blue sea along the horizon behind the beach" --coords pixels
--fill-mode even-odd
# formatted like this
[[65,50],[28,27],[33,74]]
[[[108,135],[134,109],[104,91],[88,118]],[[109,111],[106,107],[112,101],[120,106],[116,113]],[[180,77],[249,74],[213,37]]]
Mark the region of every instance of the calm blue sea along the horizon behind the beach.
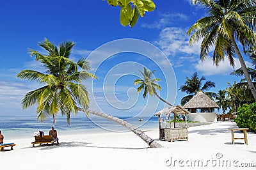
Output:
[[[138,121],[138,117],[120,117],[128,121],[132,125],[142,130],[158,128],[157,116],[152,118],[142,118],[143,121]],[[56,118],[56,123],[53,124],[51,118],[41,122],[36,120],[36,116],[0,116],[0,130],[5,139],[8,138],[28,138],[33,137],[33,133],[40,130],[49,133],[51,127],[54,126],[58,130],[58,134],[90,134],[99,132],[125,132],[126,128],[112,121],[100,117],[87,118],[72,117],[70,125],[67,124],[65,117],[59,116]]]

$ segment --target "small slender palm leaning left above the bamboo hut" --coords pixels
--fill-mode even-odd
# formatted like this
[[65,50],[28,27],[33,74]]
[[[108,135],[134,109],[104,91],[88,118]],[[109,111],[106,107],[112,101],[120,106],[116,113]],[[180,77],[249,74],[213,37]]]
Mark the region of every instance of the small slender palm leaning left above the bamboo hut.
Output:
[[161,79],[155,78],[152,79],[153,74],[156,70],[153,70],[152,72],[150,72],[150,70],[147,70],[147,68],[143,68],[144,72],[141,72],[141,70],[139,70],[141,72],[141,74],[143,75],[143,79],[136,79],[133,84],[137,85],[140,84],[140,86],[137,88],[138,93],[144,89],[144,93],[143,93],[143,98],[147,97],[147,94],[149,94],[150,96],[156,96],[157,98],[159,98],[160,100],[162,100],[164,103],[173,106],[172,104],[170,104],[169,102],[167,102],[166,100],[164,100],[163,98],[159,97],[159,95],[157,95],[157,91],[161,90],[161,86],[159,86],[159,84],[157,84],[157,81],[161,81]]

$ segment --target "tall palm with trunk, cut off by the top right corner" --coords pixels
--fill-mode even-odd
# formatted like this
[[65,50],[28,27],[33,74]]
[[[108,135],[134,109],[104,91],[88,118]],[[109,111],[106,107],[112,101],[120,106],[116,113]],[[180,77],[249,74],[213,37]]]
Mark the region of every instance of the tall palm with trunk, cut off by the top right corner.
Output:
[[256,1],[255,0],[194,0],[208,10],[209,16],[199,19],[188,30],[191,35],[190,45],[203,40],[200,50],[202,61],[207,57],[211,47],[214,47],[213,62],[218,65],[228,56],[230,65],[234,66],[234,56],[241,63],[246,81],[256,100],[256,91],[244,63],[237,42],[243,50],[255,50],[256,35]]

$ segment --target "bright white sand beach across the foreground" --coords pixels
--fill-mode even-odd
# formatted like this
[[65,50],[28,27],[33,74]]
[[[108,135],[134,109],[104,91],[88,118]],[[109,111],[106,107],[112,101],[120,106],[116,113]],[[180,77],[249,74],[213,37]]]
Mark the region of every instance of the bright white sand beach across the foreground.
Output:
[[242,166],[256,166],[256,134],[248,133],[248,145],[239,139],[232,144],[234,127],[230,121],[190,127],[188,141],[175,142],[159,141],[158,129],[147,130],[164,146],[158,149],[132,132],[60,135],[60,146],[34,148],[33,137],[6,139],[17,145],[0,152],[1,169],[255,169]]

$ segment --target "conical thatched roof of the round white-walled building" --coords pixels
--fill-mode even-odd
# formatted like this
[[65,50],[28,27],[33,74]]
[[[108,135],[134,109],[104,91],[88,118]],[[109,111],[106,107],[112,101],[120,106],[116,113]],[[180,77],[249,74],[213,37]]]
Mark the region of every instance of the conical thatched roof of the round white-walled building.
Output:
[[183,106],[184,109],[201,108],[220,108],[211,98],[207,97],[202,91],[198,92],[188,103]]

